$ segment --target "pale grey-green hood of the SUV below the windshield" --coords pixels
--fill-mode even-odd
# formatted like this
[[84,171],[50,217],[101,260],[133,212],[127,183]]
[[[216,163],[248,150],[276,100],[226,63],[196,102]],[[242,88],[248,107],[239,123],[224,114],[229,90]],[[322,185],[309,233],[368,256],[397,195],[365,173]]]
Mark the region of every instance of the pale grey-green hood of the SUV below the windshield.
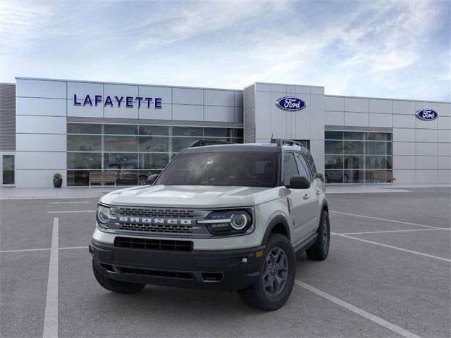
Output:
[[116,190],[99,201],[117,206],[221,208],[255,206],[279,197],[279,187],[152,185]]

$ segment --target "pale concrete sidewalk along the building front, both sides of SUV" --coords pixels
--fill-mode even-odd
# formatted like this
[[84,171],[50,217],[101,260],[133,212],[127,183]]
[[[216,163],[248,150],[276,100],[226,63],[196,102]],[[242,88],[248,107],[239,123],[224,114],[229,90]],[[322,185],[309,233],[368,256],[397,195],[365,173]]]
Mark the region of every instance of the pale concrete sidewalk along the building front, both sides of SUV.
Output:
[[[451,188],[451,184],[328,184],[328,194],[374,194],[383,192],[410,192],[412,188]],[[72,187],[72,188],[9,188],[0,187],[0,200],[5,199],[82,199],[98,198],[116,189],[126,187]]]

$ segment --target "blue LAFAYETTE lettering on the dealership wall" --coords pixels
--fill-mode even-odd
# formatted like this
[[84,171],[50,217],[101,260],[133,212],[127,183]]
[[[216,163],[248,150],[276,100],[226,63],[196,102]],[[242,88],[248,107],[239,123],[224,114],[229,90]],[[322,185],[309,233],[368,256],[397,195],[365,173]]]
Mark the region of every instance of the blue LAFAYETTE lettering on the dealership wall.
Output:
[[74,106],[99,106],[118,108],[121,105],[125,108],[133,108],[134,106],[141,108],[145,106],[146,108],[156,108],[161,109],[161,98],[159,97],[144,97],[144,96],[105,96],[105,99],[101,95],[86,95],[83,98],[78,98],[77,94],[73,94],[73,105]]

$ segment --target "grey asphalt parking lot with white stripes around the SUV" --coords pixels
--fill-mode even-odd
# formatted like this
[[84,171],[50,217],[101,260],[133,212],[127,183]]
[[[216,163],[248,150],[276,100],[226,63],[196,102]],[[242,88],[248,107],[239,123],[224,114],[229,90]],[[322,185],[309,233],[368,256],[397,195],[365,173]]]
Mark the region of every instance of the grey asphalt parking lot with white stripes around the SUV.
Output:
[[330,194],[328,259],[300,255],[272,313],[236,294],[107,292],[87,250],[96,199],[0,201],[1,337],[450,337],[450,189],[407,190]]

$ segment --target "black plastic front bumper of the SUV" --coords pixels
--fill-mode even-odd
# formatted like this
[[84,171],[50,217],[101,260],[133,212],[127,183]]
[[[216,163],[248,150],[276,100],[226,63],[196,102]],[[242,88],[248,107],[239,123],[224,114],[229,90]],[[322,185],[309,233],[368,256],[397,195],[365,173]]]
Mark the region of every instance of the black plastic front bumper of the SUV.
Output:
[[129,249],[92,241],[97,270],[121,282],[237,291],[258,280],[264,246],[240,250],[163,251]]

